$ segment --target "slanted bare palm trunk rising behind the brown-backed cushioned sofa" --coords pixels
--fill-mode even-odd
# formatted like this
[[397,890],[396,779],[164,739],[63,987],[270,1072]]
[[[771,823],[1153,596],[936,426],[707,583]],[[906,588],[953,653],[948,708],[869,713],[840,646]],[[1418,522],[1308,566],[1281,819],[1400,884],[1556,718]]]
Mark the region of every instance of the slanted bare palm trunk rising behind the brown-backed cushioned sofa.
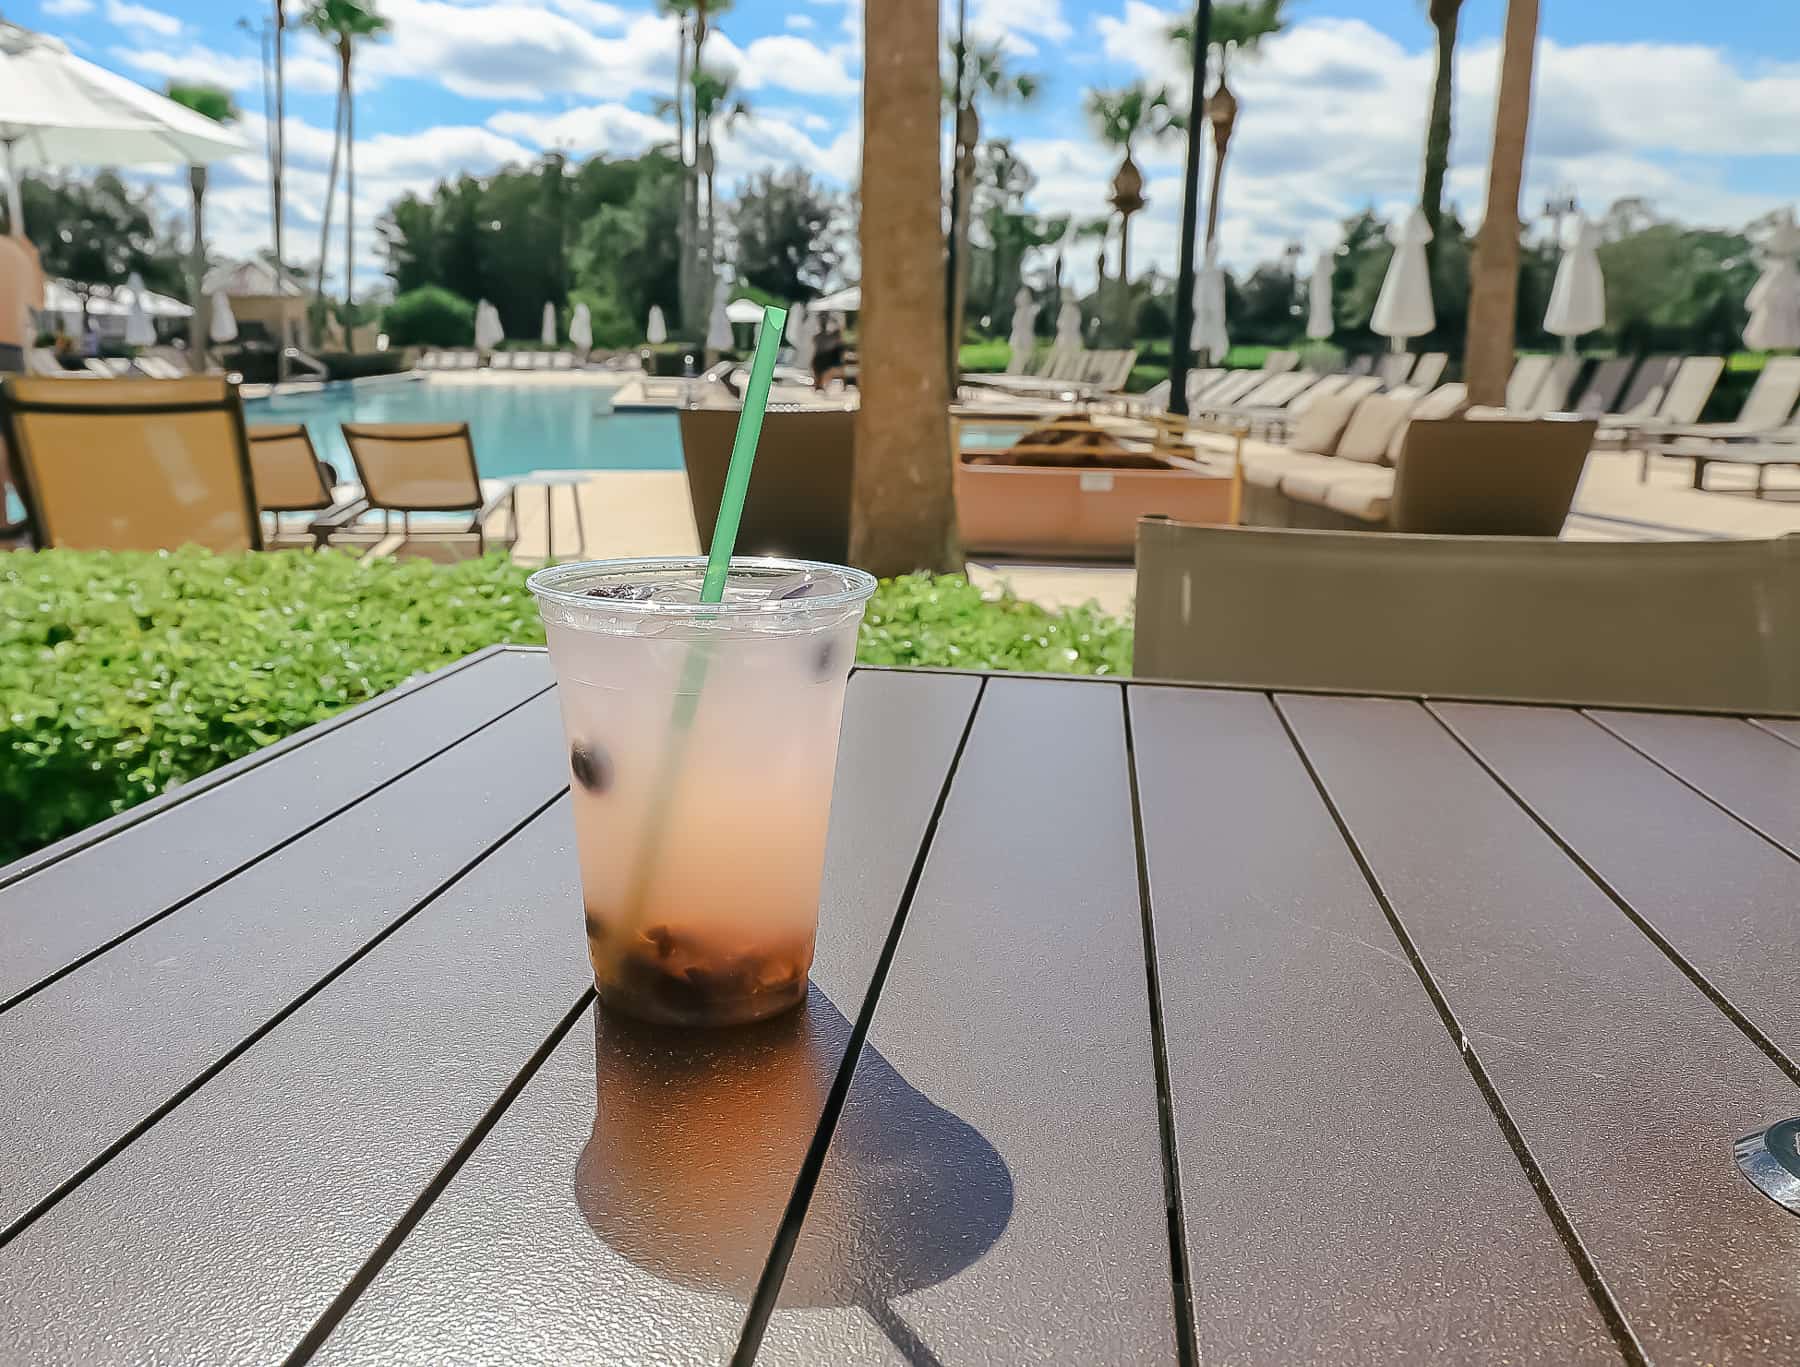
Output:
[[1537,0],[1508,0],[1494,104],[1494,155],[1487,169],[1487,213],[1469,267],[1469,340],[1463,382],[1471,403],[1505,403],[1519,304],[1519,182],[1532,119],[1532,59]]

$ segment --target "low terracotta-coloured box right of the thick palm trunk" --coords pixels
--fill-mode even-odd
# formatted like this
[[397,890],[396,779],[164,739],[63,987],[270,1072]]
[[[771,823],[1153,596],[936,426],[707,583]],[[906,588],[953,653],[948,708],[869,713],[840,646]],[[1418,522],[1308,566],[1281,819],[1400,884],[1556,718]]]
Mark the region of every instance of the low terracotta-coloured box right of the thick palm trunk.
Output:
[[1055,560],[1130,560],[1138,519],[1229,522],[1231,475],[1181,457],[1168,468],[1093,468],[956,461],[956,513],[965,549]]

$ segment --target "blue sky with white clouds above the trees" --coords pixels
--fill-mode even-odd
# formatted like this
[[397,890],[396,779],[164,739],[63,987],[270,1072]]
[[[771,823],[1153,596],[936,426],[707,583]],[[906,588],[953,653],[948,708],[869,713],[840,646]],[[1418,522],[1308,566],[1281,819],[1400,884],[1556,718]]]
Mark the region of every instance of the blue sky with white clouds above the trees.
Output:
[[[950,9],[949,0],[945,0]],[[290,0],[290,11],[297,9]],[[1082,115],[1093,86],[1183,83],[1163,38],[1177,0],[968,0],[977,32],[1042,79],[1026,108],[990,113],[1037,171],[1031,207],[1093,216],[1116,157]],[[259,146],[254,0],[0,0],[14,22],[67,38],[135,79],[214,79],[250,113]],[[655,101],[673,83],[675,36],[652,0],[382,0],[391,40],[362,59],[358,213],[405,189],[488,173],[558,146],[632,155],[666,137]],[[1800,196],[1800,4],[1730,0],[1696,20],[1692,0],[1548,0],[1525,204],[1575,191],[1598,213],[1642,195],[1660,213],[1739,227]],[[1431,77],[1422,0],[1292,0],[1292,27],[1233,63],[1242,103],[1226,173],[1222,250],[1244,267],[1291,241],[1330,245],[1337,220],[1417,193]],[[1498,74],[1503,0],[1467,0],[1458,59],[1449,195],[1481,209],[1481,166]],[[736,0],[709,61],[736,70],[754,115],[720,146],[729,191],[767,166],[805,166],[848,186],[860,126],[860,0]],[[288,40],[290,222],[317,225],[331,148],[333,63],[322,41]],[[1179,148],[1139,151],[1148,211],[1134,222],[1136,268],[1168,267],[1179,211]],[[259,155],[214,175],[212,229],[225,250],[266,241]],[[171,209],[185,178],[160,177]],[[378,272],[367,227],[358,274]]]

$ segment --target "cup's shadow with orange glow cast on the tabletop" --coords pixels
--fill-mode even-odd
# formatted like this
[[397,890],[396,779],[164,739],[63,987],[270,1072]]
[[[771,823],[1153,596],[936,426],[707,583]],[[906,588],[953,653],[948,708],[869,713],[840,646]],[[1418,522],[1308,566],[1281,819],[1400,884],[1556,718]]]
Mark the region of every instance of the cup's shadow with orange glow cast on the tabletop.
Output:
[[[756,1025],[680,1030],[594,1010],[594,1131],[576,1205],[653,1275],[749,1300],[819,1124],[850,1021],[819,991]],[[1012,1218],[1006,1162],[864,1046],[783,1306],[868,1311],[934,1362],[889,1302],[976,1263]]]

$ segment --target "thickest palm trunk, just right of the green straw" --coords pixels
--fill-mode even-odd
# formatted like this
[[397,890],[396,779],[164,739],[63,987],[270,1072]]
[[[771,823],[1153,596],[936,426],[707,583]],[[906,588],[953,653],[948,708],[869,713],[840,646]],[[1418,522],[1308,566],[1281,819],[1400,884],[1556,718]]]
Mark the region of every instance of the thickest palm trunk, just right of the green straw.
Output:
[[862,407],[850,560],[961,569],[943,335],[938,5],[862,11]]

